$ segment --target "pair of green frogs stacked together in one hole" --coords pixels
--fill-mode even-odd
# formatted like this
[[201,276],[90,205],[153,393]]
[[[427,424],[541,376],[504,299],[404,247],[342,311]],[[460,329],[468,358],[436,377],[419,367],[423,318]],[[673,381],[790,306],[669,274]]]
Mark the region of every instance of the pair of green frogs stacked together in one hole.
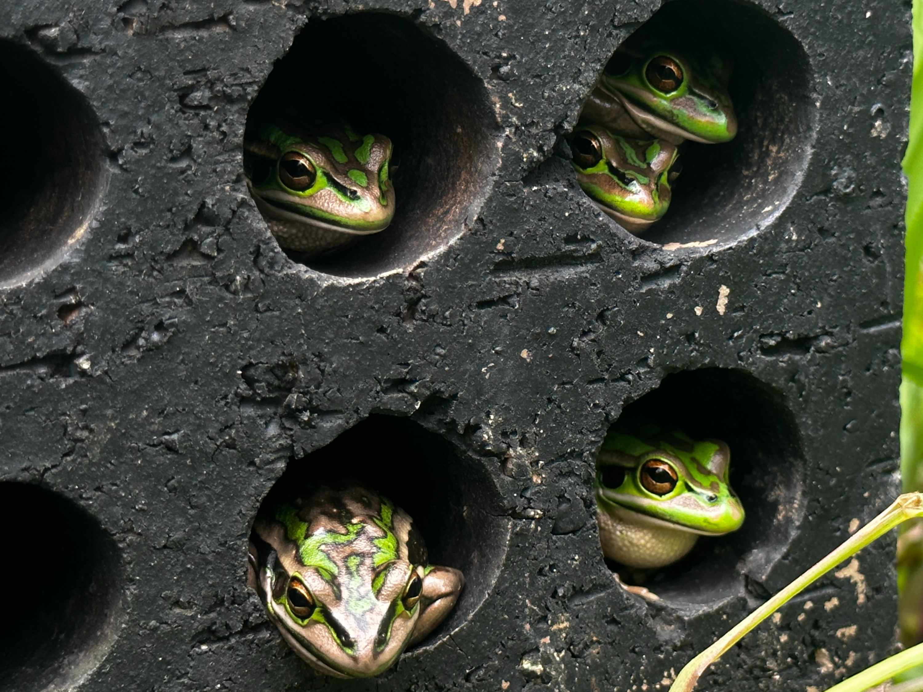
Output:
[[737,135],[730,76],[730,60],[702,47],[629,38],[605,66],[569,137],[583,191],[631,233],[659,221],[681,172],[679,147]]

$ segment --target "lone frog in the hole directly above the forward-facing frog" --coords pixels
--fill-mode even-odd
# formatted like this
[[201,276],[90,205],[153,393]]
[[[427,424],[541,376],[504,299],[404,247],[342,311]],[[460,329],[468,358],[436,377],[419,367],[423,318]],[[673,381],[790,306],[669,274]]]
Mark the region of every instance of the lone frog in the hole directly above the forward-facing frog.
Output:
[[394,217],[391,141],[348,125],[262,125],[244,138],[250,195],[289,250],[317,255],[384,231]]

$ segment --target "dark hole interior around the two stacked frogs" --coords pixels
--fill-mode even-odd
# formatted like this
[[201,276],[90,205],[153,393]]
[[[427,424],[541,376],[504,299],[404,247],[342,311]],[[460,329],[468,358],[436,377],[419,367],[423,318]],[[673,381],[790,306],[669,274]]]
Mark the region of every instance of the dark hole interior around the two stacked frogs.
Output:
[[[641,237],[660,245],[732,244],[765,227],[795,195],[817,128],[808,54],[765,10],[738,0],[675,0],[636,32],[676,45],[694,36],[734,60],[737,137],[685,142],[665,216]],[[630,39],[629,39],[630,40]]]

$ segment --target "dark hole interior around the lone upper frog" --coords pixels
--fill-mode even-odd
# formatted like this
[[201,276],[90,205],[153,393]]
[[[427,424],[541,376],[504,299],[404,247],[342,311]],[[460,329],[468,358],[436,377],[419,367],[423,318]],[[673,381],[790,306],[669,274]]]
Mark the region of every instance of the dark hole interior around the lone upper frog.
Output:
[[[293,88],[306,69],[311,88]],[[247,136],[280,117],[308,129],[315,121],[346,122],[360,136],[378,133],[393,144],[396,204],[388,228],[319,257],[286,250],[328,274],[376,276],[449,245],[473,220],[497,165],[497,122],[483,81],[444,42],[396,15],[309,21],[260,89]]]

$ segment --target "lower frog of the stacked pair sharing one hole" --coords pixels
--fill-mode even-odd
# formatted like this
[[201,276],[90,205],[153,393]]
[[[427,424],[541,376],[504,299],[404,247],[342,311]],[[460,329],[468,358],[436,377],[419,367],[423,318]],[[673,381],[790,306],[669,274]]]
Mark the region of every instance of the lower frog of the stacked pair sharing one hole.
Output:
[[670,206],[680,172],[669,142],[629,139],[600,125],[578,127],[570,139],[577,182],[596,205],[632,233],[641,233]]

